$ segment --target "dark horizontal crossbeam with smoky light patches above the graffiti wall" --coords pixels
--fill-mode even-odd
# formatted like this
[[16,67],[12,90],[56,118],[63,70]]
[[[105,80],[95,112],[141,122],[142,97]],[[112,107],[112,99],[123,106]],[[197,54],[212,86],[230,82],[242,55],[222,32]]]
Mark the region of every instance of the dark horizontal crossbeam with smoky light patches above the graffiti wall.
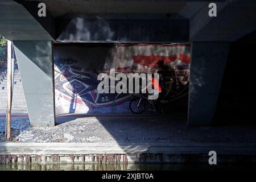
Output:
[[62,21],[59,27],[65,28],[59,33],[58,42],[188,42],[187,19],[90,15]]

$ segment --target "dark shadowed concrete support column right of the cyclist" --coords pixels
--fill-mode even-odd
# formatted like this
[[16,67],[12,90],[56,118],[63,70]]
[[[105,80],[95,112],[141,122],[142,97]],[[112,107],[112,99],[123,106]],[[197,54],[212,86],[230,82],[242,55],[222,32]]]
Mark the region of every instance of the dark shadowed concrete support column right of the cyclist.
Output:
[[229,43],[193,42],[189,82],[189,126],[210,126],[229,52]]

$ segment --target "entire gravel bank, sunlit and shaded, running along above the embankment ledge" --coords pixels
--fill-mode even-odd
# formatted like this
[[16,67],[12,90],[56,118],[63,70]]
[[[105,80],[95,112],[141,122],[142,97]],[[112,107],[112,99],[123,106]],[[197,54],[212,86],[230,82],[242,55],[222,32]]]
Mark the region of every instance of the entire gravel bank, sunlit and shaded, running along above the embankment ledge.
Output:
[[[12,121],[15,142],[255,143],[255,126],[187,127],[186,118],[57,118],[51,128],[29,127],[28,119]],[[0,119],[0,141],[5,120]]]

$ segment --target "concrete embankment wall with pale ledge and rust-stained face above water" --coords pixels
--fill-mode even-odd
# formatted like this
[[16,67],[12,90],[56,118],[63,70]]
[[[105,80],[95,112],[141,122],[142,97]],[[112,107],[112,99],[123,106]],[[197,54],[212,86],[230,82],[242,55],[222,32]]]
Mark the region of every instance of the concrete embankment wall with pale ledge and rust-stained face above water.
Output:
[[207,163],[209,151],[218,163],[256,163],[251,144],[160,143],[0,143],[0,162],[7,163]]

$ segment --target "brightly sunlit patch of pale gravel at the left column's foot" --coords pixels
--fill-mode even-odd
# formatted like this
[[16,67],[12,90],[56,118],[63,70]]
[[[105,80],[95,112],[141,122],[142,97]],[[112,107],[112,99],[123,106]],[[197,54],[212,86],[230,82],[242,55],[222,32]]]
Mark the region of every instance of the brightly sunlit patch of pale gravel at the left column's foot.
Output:
[[75,119],[52,128],[31,127],[20,133],[18,142],[114,142],[97,119]]

